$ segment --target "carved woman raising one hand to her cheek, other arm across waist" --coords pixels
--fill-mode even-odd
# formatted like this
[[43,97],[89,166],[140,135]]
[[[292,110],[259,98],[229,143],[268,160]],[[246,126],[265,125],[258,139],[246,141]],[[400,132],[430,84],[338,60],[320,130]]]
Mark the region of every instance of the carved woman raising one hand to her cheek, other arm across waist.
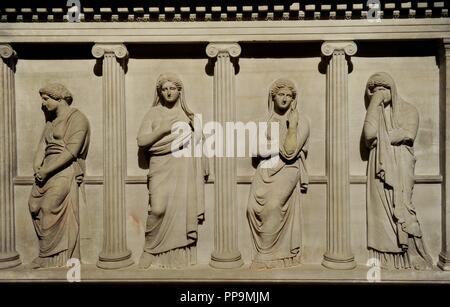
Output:
[[[255,254],[252,268],[293,266],[300,262],[300,193],[306,192],[309,122],[297,110],[290,80],[276,80],[268,97],[268,131],[279,125],[279,146],[259,147],[260,163],[250,188],[247,218]],[[276,138],[267,134],[270,144]]]

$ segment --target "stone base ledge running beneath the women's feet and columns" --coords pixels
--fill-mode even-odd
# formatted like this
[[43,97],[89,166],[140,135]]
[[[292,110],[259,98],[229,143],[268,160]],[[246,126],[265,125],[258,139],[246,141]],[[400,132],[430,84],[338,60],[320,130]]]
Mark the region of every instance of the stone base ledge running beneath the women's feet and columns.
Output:
[[[214,269],[207,264],[198,264],[185,269],[139,269],[137,265],[119,270],[103,270],[94,264],[81,265],[81,281],[86,282],[354,282],[367,283],[368,267],[359,265],[353,270],[329,270],[320,264],[302,264],[295,267],[271,270],[250,270],[249,264],[232,270]],[[27,265],[3,270],[0,281],[8,282],[67,282],[66,268],[32,270]],[[205,277],[206,276],[206,277]],[[245,276],[245,278],[242,278]],[[400,283],[448,283],[449,271],[384,271],[380,273],[381,282]]]

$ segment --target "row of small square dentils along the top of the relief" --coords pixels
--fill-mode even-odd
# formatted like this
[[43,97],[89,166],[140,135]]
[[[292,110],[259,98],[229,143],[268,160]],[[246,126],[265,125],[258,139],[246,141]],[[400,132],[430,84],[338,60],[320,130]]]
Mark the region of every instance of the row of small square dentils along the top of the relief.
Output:
[[[75,1],[74,1],[75,2]],[[280,1],[281,2],[281,1]],[[186,6],[185,4],[167,6],[147,6],[147,3],[136,3],[128,7],[122,1],[111,7],[83,7],[81,2],[81,21],[233,21],[233,20],[314,20],[314,19],[361,19],[373,14],[373,4],[370,1],[360,1],[349,5],[346,1],[335,3],[329,1],[321,5],[305,4],[295,1],[290,4],[270,1],[258,2],[253,5],[251,1],[236,6],[218,6],[211,3],[206,6]],[[5,5],[6,6],[6,5]],[[39,4],[27,8],[14,7],[0,8],[2,21],[8,22],[48,22],[67,21],[64,14],[68,7],[41,8]],[[402,2],[381,0],[376,8],[380,16],[385,19],[396,18],[441,18],[448,16],[448,3],[445,1],[428,2]],[[51,18],[50,18],[51,16]]]

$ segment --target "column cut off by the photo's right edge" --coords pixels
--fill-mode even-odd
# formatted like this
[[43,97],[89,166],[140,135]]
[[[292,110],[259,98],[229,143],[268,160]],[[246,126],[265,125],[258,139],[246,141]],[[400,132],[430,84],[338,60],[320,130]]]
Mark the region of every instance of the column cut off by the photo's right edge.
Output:
[[[440,115],[442,184],[442,248],[438,267],[450,271],[450,38],[444,39],[440,63]],[[443,150],[442,150],[443,149]]]

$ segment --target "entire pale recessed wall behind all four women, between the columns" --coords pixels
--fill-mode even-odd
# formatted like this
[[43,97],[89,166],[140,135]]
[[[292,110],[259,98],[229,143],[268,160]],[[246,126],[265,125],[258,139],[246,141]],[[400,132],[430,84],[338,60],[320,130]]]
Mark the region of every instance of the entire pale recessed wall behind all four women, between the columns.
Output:
[[[268,44],[273,46],[276,44]],[[270,84],[283,77],[298,87],[298,108],[310,120],[311,135],[308,156],[309,173],[313,178],[324,176],[325,169],[325,75],[319,72],[320,44],[282,45],[285,48],[262,50],[251,44],[242,44],[239,73],[236,75],[236,118],[244,123],[258,121],[267,114],[267,95]],[[306,46],[306,47],[305,47]],[[309,46],[309,47],[308,47]],[[312,48],[312,47],[314,48]],[[126,74],[126,134],[127,175],[145,178],[148,170],[139,163],[136,136],[140,123],[149,110],[157,77],[164,72],[180,76],[185,86],[189,107],[201,113],[203,122],[213,119],[213,77],[208,71],[204,45],[183,49],[172,45],[133,45]],[[267,47],[267,48],[269,48]],[[24,47],[25,48],[25,47]],[[181,48],[175,50],[176,48]],[[85,48],[86,50],[88,48]],[[270,49],[270,48],[269,48]],[[94,73],[96,61],[89,54],[84,58],[64,59],[64,50],[54,58],[20,58],[16,72],[17,155],[18,175],[32,176],[34,148],[44,127],[40,110],[39,88],[49,81],[65,84],[74,95],[73,106],[88,117],[91,124],[91,146],[87,159],[87,175],[103,176],[103,106],[102,80]],[[260,51],[258,51],[260,50]],[[367,162],[360,150],[360,137],[364,123],[364,88],[368,77],[377,71],[390,73],[397,84],[398,93],[417,107],[420,127],[416,139],[416,174],[439,175],[439,74],[432,54],[399,56],[358,54],[352,57],[353,71],[349,75],[349,132],[350,174],[364,176]],[[67,51],[70,54],[69,51]],[[211,170],[214,173],[213,160]],[[250,158],[238,158],[237,174],[240,178],[252,176],[255,171]],[[137,176],[137,177],[135,177]],[[168,182],[170,184],[170,182]],[[237,188],[237,216],[239,249],[246,264],[252,258],[252,241],[246,219],[246,206],[250,185],[241,183]],[[30,185],[17,185],[16,232],[17,249],[25,263],[37,256],[38,246],[28,212]],[[351,239],[356,261],[365,264],[366,203],[365,184],[351,185]],[[95,263],[103,238],[103,187],[86,186],[87,206],[82,205],[83,262]],[[320,263],[326,248],[326,183],[316,180],[310,184],[308,194],[302,195],[303,262]],[[214,248],[214,185],[206,185],[206,221],[199,227],[198,262],[207,264]],[[126,185],[127,239],[135,261],[139,260],[144,243],[144,229],[148,203],[145,183]],[[441,240],[441,186],[416,184],[414,204],[430,254],[435,261]]]

